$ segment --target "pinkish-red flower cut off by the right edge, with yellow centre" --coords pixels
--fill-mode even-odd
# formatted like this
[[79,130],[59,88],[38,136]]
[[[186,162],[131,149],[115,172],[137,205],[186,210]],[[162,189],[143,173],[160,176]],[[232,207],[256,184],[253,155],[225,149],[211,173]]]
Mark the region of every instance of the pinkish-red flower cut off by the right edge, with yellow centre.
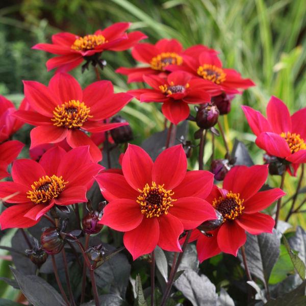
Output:
[[267,119],[258,111],[242,106],[256,144],[269,155],[298,165],[306,163],[306,108],[290,117],[282,100],[272,96],[267,106]]

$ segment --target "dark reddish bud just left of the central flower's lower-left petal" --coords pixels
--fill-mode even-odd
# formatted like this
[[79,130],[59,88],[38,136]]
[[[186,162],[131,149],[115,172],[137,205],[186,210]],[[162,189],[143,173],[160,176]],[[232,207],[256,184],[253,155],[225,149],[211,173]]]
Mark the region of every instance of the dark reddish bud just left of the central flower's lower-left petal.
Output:
[[91,207],[91,201],[89,200],[86,209],[89,211],[82,219],[83,230],[87,234],[99,233],[104,224],[99,224],[98,221],[103,217],[103,209],[106,206],[106,201],[100,202],[97,210],[93,210]]

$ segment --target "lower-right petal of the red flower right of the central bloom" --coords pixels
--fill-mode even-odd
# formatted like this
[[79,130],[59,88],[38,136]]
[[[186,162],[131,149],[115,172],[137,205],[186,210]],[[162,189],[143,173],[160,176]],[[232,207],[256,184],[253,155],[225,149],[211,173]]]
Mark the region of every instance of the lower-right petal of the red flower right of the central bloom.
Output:
[[262,213],[243,214],[236,219],[236,222],[248,233],[259,235],[261,233],[273,233],[275,221],[272,217]]

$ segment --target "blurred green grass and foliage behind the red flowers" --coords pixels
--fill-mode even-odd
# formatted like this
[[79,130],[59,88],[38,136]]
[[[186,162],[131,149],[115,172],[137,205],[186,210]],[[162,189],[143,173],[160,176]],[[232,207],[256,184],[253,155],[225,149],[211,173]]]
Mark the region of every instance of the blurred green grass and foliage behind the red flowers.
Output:
[[[248,105],[265,114],[271,95],[282,99],[291,114],[306,106],[306,17],[304,0],[12,0],[0,3],[0,94],[16,105],[23,98],[22,80],[47,84],[54,74],[47,71],[45,62],[52,55],[31,50],[36,43],[50,42],[53,34],[71,32],[80,36],[104,29],[114,22],[133,22],[130,30],[139,30],[155,43],[162,38],[175,38],[184,48],[205,44],[220,52],[224,67],[233,68],[250,78],[251,87],[232,102],[230,114],[222,116],[230,150],[234,139],[243,141],[255,164],[263,164],[263,151],[255,144],[240,105]],[[126,84],[124,75],[114,71],[120,66],[133,67],[135,61],[129,52],[103,55],[107,67],[102,78],[111,80],[117,92],[136,89],[139,84]],[[93,69],[81,73],[81,66],[71,74],[83,88],[95,81]],[[191,113],[195,115],[194,109]],[[121,112],[132,126],[134,144],[162,131],[164,117],[161,107],[151,103],[140,104],[134,99]],[[195,122],[189,124],[188,140],[197,130]],[[14,139],[30,144],[30,127],[25,125]],[[138,136],[139,135],[139,136]],[[212,154],[212,136],[204,160]],[[222,139],[215,137],[215,158],[224,158]],[[194,142],[197,144],[197,142]],[[196,150],[196,149],[195,149]],[[27,150],[23,150],[25,152]],[[25,154],[25,153],[24,153]],[[27,156],[25,156],[27,157]],[[189,169],[197,169],[197,156],[193,155]],[[207,166],[206,169],[209,169]],[[299,175],[299,172],[298,172]],[[281,178],[270,176],[269,183],[279,186]],[[285,191],[293,194],[297,178],[287,175]],[[303,195],[301,195],[303,196]],[[298,198],[301,201],[302,198]],[[288,213],[285,208],[280,219]],[[292,224],[306,228],[302,214],[291,217]],[[1,245],[9,246],[9,239],[0,236]],[[7,242],[4,242],[4,239]],[[7,265],[1,265],[0,274],[8,275]],[[6,283],[1,281],[1,294]],[[7,291],[7,295],[16,294]],[[6,298],[13,299],[10,296]]]

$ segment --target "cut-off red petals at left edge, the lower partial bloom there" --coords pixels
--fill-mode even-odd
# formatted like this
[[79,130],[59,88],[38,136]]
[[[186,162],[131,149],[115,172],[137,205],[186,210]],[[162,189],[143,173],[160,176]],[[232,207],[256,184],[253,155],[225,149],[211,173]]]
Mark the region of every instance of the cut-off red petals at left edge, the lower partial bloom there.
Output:
[[17,158],[23,147],[24,144],[17,140],[0,144],[0,180],[10,176],[7,171],[8,165]]

